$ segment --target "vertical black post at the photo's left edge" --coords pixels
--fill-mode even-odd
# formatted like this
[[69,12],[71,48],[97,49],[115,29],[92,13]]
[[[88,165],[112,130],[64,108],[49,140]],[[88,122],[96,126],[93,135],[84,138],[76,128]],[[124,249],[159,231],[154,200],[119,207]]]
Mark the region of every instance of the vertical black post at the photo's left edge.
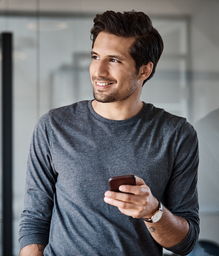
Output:
[[3,255],[12,256],[12,33],[1,34]]

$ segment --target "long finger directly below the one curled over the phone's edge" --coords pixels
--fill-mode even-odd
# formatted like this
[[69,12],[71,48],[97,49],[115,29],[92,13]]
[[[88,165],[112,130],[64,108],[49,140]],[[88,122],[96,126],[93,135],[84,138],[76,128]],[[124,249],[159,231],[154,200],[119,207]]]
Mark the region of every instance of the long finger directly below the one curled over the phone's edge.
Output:
[[105,192],[105,196],[114,198],[123,202],[130,202],[130,203],[146,204],[146,201],[147,201],[147,196],[145,195],[133,195],[128,193],[120,193],[120,192],[112,192],[112,191]]

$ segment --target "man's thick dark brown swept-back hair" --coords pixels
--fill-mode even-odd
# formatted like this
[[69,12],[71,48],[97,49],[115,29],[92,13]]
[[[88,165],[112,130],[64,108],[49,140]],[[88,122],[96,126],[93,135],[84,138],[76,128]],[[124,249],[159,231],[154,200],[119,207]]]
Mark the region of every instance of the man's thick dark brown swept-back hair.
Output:
[[153,70],[150,76],[144,80],[143,85],[152,78],[164,49],[164,43],[161,35],[153,28],[152,21],[145,13],[134,10],[123,13],[107,11],[97,14],[93,22],[94,25],[91,29],[92,48],[100,32],[107,32],[118,37],[134,38],[129,53],[136,63],[136,73],[139,73],[140,67],[152,61]]

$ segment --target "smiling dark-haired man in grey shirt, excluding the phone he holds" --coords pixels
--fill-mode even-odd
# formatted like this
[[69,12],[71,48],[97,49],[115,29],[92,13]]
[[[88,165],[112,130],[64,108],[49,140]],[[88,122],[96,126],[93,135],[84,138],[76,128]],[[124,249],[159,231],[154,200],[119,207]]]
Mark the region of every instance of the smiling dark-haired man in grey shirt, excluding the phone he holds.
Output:
[[[20,255],[187,255],[199,234],[196,132],[140,101],[161,36],[142,12],[94,22],[95,100],[50,110],[32,135]],[[137,186],[107,191],[131,173]]]

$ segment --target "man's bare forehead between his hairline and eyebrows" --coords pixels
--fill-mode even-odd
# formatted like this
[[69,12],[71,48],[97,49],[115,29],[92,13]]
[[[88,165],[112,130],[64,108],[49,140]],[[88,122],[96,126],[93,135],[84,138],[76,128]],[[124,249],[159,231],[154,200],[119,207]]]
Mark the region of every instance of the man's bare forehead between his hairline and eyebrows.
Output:
[[93,45],[97,54],[120,55],[131,58],[128,50],[133,43],[133,38],[117,37],[116,35],[100,32]]

